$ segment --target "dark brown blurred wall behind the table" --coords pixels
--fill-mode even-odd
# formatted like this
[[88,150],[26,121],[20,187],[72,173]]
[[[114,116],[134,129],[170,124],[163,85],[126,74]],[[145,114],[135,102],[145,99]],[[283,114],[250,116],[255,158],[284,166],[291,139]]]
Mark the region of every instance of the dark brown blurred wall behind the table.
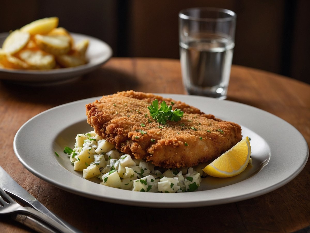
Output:
[[237,13],[233,64],[310,83],[308,0],[1,0],[0,32],[58,16],[67,30],[110,44],[116,57],[179,58],[178,12],[188,7]]

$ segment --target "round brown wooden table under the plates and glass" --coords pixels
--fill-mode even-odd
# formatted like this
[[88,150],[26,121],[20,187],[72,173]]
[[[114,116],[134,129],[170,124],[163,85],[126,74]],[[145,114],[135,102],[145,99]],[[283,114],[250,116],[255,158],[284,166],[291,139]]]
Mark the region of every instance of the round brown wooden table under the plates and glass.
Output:
[[[60,190],[31,174],[15,157],[14,135],[29,118],[63,103],[130,89],[185,94],[179,60],[112,58],[99,70],[63,85],[27,87],[0,82],[0,165],[48,209],[83,232],[125,232],[129,228],[136,232],[292,232],[310,225],[310,162],[287,185],[253,199],[154,209],[105,203]],[[310,85],[233,66],[228,100],[281,117],[301,132],[309,146]],[[2,216],[0,229],[29,232]]]

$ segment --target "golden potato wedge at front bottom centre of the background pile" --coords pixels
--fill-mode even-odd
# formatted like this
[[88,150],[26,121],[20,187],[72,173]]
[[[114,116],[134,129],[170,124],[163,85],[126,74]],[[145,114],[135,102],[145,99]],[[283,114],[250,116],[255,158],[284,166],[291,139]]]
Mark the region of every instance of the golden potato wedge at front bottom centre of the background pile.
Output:
[[19,53],[19,57],[26,62],[31,69],[50,70],[56,65],[55,57],[41,50],[22,50]]

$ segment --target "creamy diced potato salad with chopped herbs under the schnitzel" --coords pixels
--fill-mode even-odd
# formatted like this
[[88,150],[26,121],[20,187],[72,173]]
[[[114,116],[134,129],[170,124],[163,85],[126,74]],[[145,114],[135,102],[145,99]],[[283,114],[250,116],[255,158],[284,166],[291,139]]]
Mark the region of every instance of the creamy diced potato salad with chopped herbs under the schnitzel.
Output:
[[98,177],[101,185],[139,192],[192,192],[199,188],[202,168],[163,169],[132,159],[102,139],[95,131],[76,136],[73,149],[66,147],[75,171],[85,179]]

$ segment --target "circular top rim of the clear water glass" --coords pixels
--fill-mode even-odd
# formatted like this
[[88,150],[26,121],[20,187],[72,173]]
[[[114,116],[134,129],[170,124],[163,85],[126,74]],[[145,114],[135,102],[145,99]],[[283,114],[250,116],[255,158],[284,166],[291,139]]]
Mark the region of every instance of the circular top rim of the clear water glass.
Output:
[[[210,11],[210,12],[222,12],[228,14],[228,17],[221,17],[221,18],[201,18],[201,17],[196,17],[196,16],[189,16],[186,15],[186,11],[193,11],[193,10],[200,10],[200,11]],[[185,20],[193,20],[193,21],[231,21],[236,19],[237,15],[234,11],[224,9],[224,8],[217,8],[217,7],[192,7],[192,8],[187,8],[183,9],[179,12],[179,18],[180,19],[185,19]]]

